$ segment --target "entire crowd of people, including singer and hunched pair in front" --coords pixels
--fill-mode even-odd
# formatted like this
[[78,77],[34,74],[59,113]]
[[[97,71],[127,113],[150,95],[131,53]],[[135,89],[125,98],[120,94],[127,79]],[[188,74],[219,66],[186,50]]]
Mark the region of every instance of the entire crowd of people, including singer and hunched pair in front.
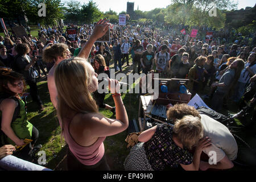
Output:
[[[0,37],[0,167],[12,169],[6,164],[19,160],[15,163],[16,169],[20,169],[18,164],[25,160],[33,162],[33,155],[42,147],[35,146],[40,131],[27,121],[22,100],[29,85],[30,96],[38,105],[39,113],[44,110],[36,85],[42,75],[47,76],[61,135],[68,144],[69,170],[109,170],[103,142],[129,126],[120,84],[109,78],[110,67],[115,72],[133,67],[133,73],[154,72],[162,78],[187,78],[185,86],[192,97],[200,94],[203,99],[209,98],[213,110],[221,113],[222,106],[232,101],[241,109],[234,118],[253,113],[255,45],[185,40],[177,32],[168,32],[170,27],[159,27],[157,23],[114,25],[109,42],[96,42],[109,30],[106,19],[95,26],[77,27],[74,42],[68,40],[67,32],[61,27],[54,26],[39,27],[38,38],[31,34],[22,38]],[[105,93],[97,90],[100,73],[108,75],[105,81],[109,82],[114,106],[105,103]],[[205,88],[210,88],[207,93]],[[104,117],[99,107],[112,111],[115,119]],[[170,107],[167,116],[176,120],[174,127],[157,125],[141,133],[139,143],[125,160],[125,169],[163,170],[181,166],[185,170],[206,170],[234,166],[232,160],[236,159],[238,148],[226,126],[185,104]],[[254,124],[255,114],[250,115],[250,121],[250,125]],[[13,154],[14,146],[25,144],[25,138],[32,142]],[[212,150],[217,152],[217,164],[209,165],[200,160],[203,153],[210,156]],[[7,159],[12,154],[15,159]],[[47,169],[30,162],[26,162],[29,169]]]

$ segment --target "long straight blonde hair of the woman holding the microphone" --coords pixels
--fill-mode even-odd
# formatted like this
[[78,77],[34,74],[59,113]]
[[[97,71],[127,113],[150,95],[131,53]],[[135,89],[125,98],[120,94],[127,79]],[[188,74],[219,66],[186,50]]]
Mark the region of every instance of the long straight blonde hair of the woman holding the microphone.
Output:
[[73,57],[61,61],[55,69],[57,116],[62,126],[71,110],[77,113],[98,113],[96,101],[88,90],[93,76],[90,67],[85,59]]

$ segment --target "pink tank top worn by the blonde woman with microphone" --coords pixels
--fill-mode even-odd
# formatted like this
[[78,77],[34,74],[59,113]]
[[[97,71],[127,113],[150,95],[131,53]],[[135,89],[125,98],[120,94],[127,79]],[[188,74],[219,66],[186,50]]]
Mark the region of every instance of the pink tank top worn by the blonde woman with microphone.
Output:
[[105,152],[104,149],[104,140],[106,137],[99,137],[95,143],[91,146],[84,147],[80,146],[80,144],[76,143],[76,141],[72,138],[71,134],[69,133],[69,125],[72,119],[65,119],[64,122],[64,138],[69,146],[69,150],[72,154],[79,160],[80,163],[84,164],[85,166],[92,166],[98,163]]

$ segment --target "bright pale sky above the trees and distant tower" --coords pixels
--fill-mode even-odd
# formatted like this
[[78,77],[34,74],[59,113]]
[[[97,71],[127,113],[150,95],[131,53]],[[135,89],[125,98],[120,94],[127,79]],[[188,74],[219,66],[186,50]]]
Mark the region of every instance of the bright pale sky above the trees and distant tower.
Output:
[[[65,2],[65,0],[61,0]],[[80,1],[81,4],[88,3],[89,0],[75,0]],[[245,9],[246,6],[253,7],[256,3],[256,0],[232,0],[238,2],[238,10]],[[121,11],[126,11],[127,0],[93,0],[98,5],[98,9],[103,11],[109,11],[109,9],[120,13]],[[130,0],[129,2],[134,2],[134,10],[150,11],[155,8],[163,8],[171,4],[171,0]]]

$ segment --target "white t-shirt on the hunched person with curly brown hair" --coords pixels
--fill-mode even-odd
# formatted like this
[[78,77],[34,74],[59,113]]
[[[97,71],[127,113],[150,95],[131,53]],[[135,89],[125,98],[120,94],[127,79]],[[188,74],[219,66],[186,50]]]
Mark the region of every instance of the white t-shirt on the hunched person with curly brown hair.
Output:
[[222,123],[210,118],[208,115],[200,114],[201,123],[204,127],[204,137],[209,137],[212,141],[212,145],[207,147],[203,152],[209,157],[212,156],[210,151],[216,152],[216,162],[220,162],[225,155],[230,160],[237,158],[237,142],[229,129],[222,125]]

